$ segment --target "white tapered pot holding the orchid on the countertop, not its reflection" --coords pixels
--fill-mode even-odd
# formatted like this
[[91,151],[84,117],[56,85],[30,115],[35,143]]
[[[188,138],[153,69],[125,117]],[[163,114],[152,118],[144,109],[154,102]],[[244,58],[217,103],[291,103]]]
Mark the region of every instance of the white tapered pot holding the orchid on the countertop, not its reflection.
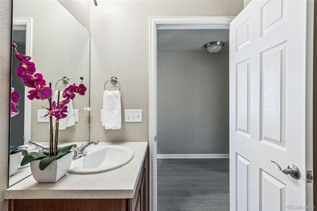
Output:
[[73,153],[54,160],[44,170],[40,169],[40,159],[32,160],[30,163],[31,172],[37,182],[57,182],[68,171]]

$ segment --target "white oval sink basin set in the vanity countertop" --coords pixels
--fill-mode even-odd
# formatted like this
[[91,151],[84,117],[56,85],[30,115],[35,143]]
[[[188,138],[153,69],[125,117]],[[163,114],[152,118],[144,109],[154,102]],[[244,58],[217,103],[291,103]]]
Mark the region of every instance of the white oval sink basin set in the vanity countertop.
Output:
[[73,159],[68,172],[92,174],[110,171],[127,164],[133,158],[131,149],[122,146],[106,145],[88,148],[87,154]]

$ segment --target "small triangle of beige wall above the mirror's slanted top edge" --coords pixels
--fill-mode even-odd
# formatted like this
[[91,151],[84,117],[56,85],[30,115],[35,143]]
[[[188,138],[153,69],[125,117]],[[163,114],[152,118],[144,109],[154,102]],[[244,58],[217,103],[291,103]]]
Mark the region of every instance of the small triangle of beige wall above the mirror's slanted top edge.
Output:
[[90,3],[91,0],[57,0],[60,2],[84,27],[90,30]]

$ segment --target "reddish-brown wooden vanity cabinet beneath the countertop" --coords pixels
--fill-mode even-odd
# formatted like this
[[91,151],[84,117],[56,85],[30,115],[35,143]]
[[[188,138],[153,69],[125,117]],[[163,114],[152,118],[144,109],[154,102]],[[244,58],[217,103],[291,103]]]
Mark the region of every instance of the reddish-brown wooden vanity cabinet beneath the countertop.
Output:
[[10,199],[9,211],[148,211],[147,152],[132,199]]

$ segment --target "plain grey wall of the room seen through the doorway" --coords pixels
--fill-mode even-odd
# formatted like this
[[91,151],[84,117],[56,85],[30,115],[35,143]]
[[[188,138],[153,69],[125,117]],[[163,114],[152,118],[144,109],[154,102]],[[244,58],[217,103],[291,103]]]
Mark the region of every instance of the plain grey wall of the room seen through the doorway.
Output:
[[229,53],[159,52],[158,154],[228,153]]

